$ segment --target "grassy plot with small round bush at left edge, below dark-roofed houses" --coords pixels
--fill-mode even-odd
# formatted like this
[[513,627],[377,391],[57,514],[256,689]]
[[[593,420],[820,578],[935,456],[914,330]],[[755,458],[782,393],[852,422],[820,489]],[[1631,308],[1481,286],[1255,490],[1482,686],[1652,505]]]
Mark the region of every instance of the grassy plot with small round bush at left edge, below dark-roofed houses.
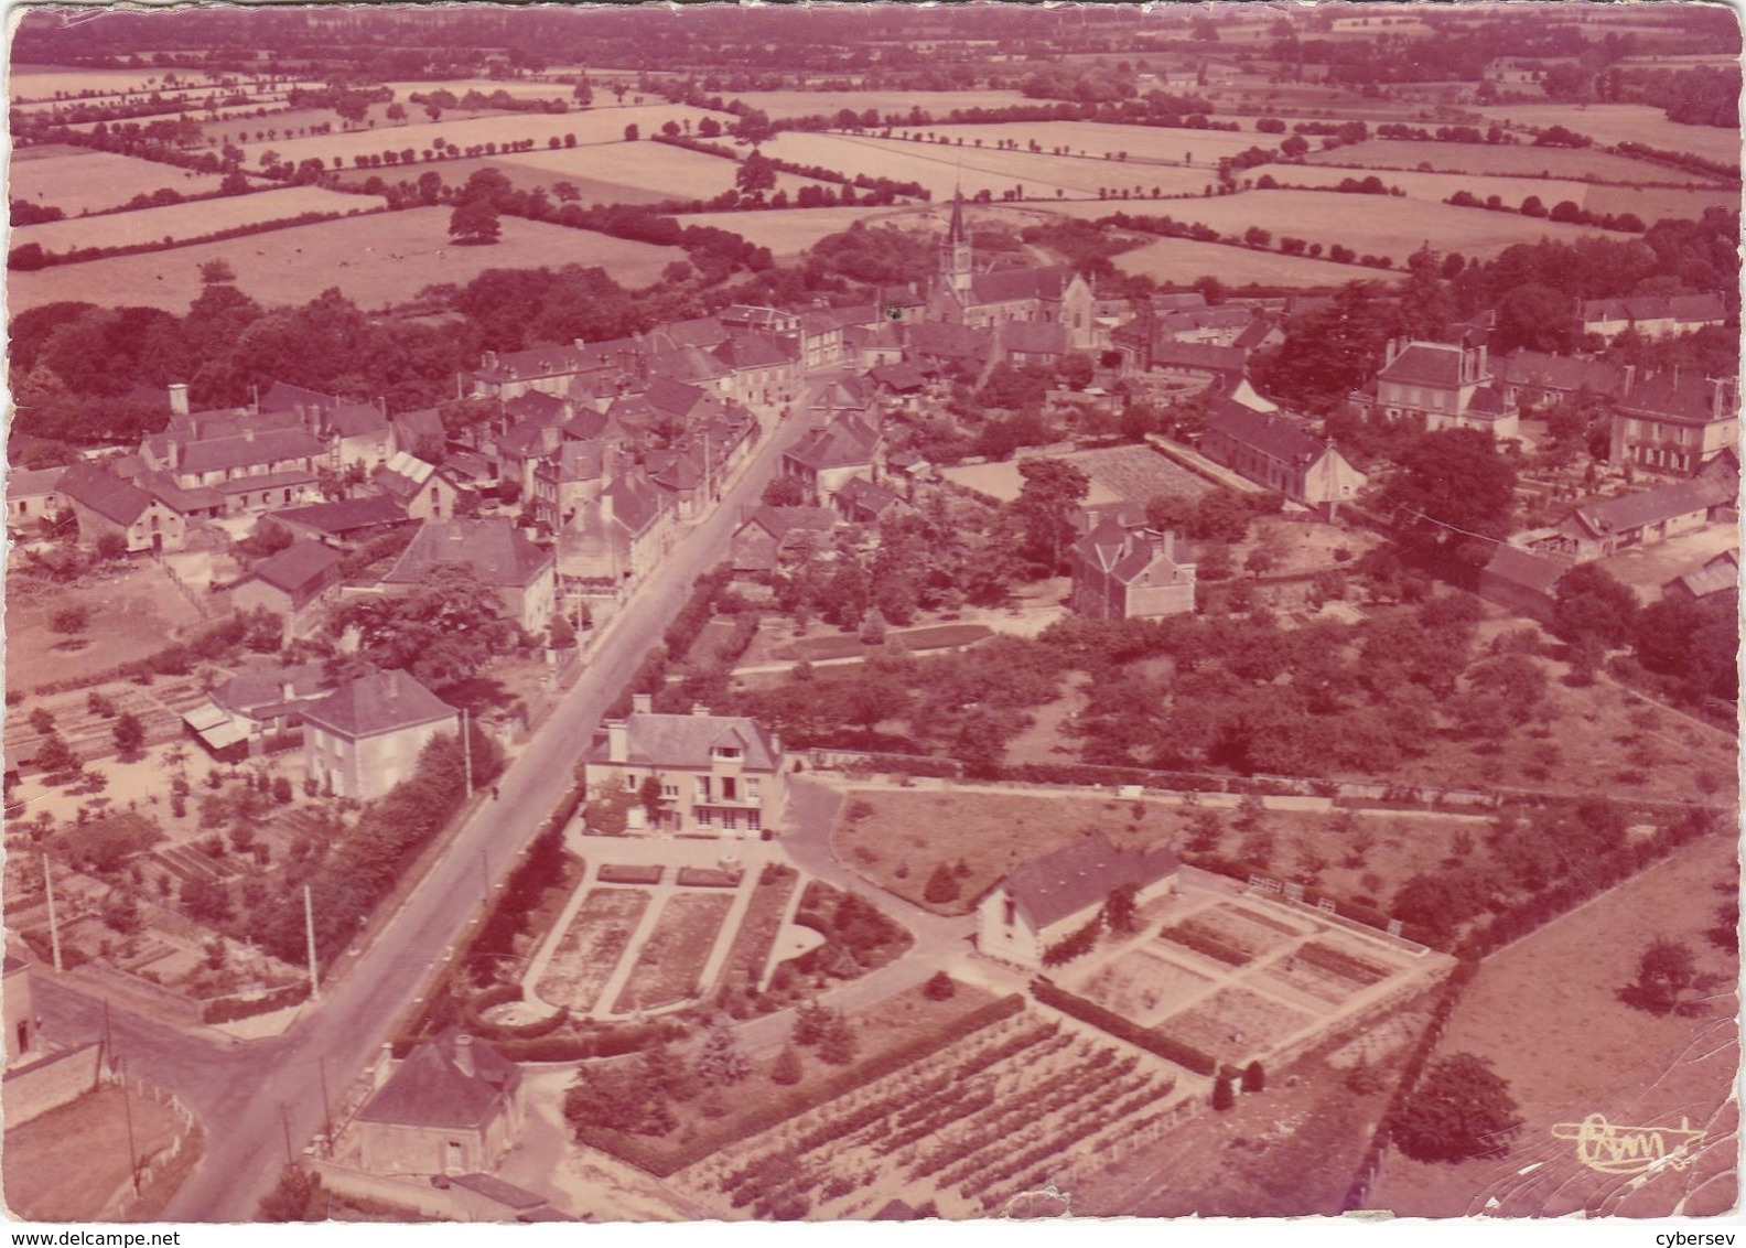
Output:
[[[89,611],[86,630],[54,632],[49,620],[70,606]],[[175,630],[194,623],[199,614],[189,600],[148,564],[66,586],[12,578],[7,586],[7,684],[28,689],[103,672],[157,653]]]

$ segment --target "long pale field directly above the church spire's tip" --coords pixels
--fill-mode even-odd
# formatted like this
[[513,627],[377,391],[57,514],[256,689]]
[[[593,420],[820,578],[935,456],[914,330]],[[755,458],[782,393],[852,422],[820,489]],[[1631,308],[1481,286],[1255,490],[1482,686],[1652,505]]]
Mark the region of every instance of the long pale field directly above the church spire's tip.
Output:
[[[983,126],[964,127],[971,131]],[[1114,161],[1091,161],[1067,155],[1037,155],[1034,152],[995,152],[986,143],[973,147],[973,134],[957,143],[911,143],[908,140],[866,138],[857,134],[812,134],[786,131],[765,143],[768,155],[798,164],[822,164],[849,176],[857,173],[883,175],[899,182],[917,182],[927,187],[936,201],[950,199],[957,187],[966,197],[986,190],[995,199],[1014,187],[1027,199],[1095,199],[1100,187],[1133,187],[1142,182],[1151,194],[1152,169],[1119,166]]]

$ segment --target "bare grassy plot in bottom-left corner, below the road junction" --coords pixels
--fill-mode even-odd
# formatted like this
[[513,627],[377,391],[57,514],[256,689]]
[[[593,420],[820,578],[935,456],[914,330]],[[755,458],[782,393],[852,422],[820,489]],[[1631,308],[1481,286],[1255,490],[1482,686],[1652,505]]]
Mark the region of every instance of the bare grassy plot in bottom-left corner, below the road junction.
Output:
[[[100,1087],[5,1133],[5,1204],[30,1222],[93,1222],[127,1185],[120,1087]],[[169,1147],[182,1122],[164,1105],[126,1094],[141,1157]],[[127,1189],[131,1196],[131,1187]]]

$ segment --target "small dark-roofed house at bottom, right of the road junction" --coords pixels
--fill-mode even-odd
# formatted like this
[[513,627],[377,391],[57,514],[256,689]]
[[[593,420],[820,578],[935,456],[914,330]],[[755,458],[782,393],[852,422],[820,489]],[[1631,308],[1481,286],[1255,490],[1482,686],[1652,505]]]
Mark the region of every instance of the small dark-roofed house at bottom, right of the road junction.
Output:
[[487,1044],[449,1028],[405,1061],[386,1056],[358,1110],[360,1166],[377,1175],[475,1175],[496,1169],[522,1129],[522,1072]]

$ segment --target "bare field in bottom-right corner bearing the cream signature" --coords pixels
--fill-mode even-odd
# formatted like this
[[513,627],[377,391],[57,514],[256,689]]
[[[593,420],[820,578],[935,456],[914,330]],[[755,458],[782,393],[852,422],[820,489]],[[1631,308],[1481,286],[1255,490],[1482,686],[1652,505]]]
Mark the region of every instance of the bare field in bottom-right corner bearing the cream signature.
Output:
[[[1402,1217],[1477,1211],[1489,1194],[1517,1187],[1516,1171],[1547,1162],[1549,1185],[1524,1190],[1503,1213],[1556,1215],[1580,1208],[1598,1190],[1599,1175],[1575,1166],[1571,1143],[1554,1140],[1554,1122],[1605,1114],[1622,1126],[1709,1129],[1723,1171],[1732,1169],[1734,1112],[1729,1100],[1739,1061],[1734,1023],[1739,958],[1709,944],[1716,906],[1736,894],[1739,847],[1713,836],[1486,960],[1461,998],[1439,1054],[1475,1053],[1509,1080],[1524,1128],[1502,1161],[1432,1166],[1390,1155],[1371,1208]],[[1619,1000],[1650,941],[1681,941],[1699,970],[1715,977],[1695,1018],[1653,1016]],[[1722,1110],[1722,1117],[1713,1117]],[[1725,1157],[1722,1155],[1725,1154]],[[1736,1180],[1704,1164],[1667,1169],[1646,1185],[1629,1211],[1666,1215],[1685,1192],[1685,1213],[1720,1213],[1734,1201]],[[1626,1211],[1626,1210],[1620,1210]]]

